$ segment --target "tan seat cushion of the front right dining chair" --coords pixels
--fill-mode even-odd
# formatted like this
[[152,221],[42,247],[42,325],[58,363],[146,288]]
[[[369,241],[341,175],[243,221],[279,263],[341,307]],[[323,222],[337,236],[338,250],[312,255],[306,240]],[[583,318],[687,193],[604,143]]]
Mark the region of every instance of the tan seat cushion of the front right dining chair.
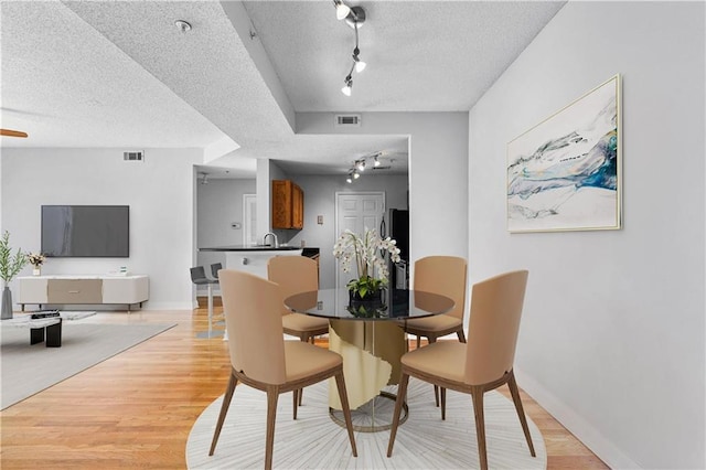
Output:
[[439,341],[402,356],[402,363],[415,371],[463,383],[466,343]]

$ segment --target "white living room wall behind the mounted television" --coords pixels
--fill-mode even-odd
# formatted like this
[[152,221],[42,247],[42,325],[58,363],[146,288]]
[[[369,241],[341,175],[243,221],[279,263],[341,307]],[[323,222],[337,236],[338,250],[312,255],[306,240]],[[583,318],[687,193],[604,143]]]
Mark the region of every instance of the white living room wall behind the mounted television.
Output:
[[[127,204],[129,258],[50,258],[42,273],[105,274],[127,266],[150,278],[146,309],[191,309],[193,164],[200,149],[2,149],[2,226],[14,246],[39,250],[42,204]],[[25,267],[21,275],[29,275]]]

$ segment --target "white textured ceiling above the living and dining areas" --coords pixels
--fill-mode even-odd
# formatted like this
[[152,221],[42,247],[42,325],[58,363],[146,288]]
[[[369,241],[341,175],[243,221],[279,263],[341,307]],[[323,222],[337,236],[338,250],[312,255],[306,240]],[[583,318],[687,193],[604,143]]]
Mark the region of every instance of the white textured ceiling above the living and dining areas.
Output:
[[368,67],[345,97],[354,31],[328,0],[0,0],[0,126],[30,133],[0,145],[240,146],[213,164],[340,172],[360,156],[404,154],[406,138],[298,136],[293,111],[468,110],[564,2],[350,4],[367,12]]

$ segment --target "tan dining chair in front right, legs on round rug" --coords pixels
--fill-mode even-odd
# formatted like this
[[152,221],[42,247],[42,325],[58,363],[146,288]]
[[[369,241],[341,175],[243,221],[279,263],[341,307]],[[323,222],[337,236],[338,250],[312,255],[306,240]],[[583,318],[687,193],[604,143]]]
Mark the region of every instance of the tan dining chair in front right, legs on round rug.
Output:
[[447,388],[471,395],[482,469],[488,469],[483,394],[507,384],[530,453],[535,457],[513,373],[526,285],[526,270],[506,273],[475,284],[471,293],[468,344],[441,341],[403,355],[402,380],[397,391],[387,457],[393,452],[399,414],[410,376],[441,387],[441,419],[446,418]]

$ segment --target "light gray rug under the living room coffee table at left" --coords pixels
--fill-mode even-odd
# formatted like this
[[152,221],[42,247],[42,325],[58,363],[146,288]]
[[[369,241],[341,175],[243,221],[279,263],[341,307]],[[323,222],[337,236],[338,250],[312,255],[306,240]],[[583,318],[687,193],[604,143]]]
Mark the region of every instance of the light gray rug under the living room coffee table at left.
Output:
[[30,345],[30,330],[0,330],[0,405],[4,409],[174,324],[97,324],[64,322],[62,346]]

